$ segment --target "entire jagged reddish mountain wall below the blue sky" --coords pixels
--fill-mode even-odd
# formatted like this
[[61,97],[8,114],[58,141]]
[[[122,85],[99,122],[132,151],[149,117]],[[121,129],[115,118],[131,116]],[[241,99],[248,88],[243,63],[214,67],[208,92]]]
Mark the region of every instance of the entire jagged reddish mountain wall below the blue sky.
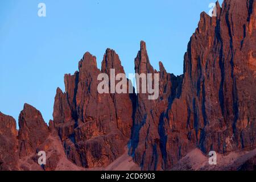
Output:
[[[79,71],[64,76],[65,92],[56,90],[49,127],[40,111],[25,104],[17,134],[15,120],[0,112],[0,170],[104,169],[119,156],[110,168],[125,166],[120,160],[128,160],[122,155],[127,144],[143,170],[214,169],[205,164],[210,150],[223,161],[239,156],[239,166],[223,162],[221,169],[254,169],[256,3],[225,0],[216,10],[216,17],[201,13],[181,76],[167,73],[161,62],[156,71],[141,42],[135,72],[159,74],[156,100],[148,100],[148,93],[129,94],[129,80],[127,93],[98,93],[100,73],[125,73],[108,48],[101,70],[86,52]],[[47,154],[43,166],[37,164],[41,150]],[[205,168],[191,164],[197,154]]]

